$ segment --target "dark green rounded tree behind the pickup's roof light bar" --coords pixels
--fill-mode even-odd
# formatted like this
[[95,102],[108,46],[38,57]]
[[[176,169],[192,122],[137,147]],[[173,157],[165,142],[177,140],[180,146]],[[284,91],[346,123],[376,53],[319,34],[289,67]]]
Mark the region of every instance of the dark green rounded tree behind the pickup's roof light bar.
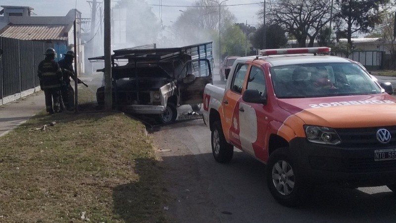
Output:
[[[263,48],[263,26],[260,26],[257,31],[252,35],[250,41],[254,48]],[[265,49],[279,49],[284,48],[288,43],[285,30],[278,24],[272,24],[266,27],[265,30]]]

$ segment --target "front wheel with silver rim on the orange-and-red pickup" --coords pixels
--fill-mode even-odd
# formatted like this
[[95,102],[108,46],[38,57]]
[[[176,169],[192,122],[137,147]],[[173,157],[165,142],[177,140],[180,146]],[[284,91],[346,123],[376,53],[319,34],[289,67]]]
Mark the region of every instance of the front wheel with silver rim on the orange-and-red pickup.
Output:
[[266,167],[268,189],[280,204],[298,206],[306,199],[300,173],[290,158],[288,148],[279,148],[269,157]]

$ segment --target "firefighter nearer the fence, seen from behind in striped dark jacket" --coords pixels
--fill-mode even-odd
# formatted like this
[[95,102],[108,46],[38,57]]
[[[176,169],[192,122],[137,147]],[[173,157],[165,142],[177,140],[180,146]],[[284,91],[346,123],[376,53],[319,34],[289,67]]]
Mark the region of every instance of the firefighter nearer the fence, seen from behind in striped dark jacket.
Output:
[[62,84],[62,70],[55,61],[56,52],[54,49],[48,48],[45,55],[46,58],[39,63],[37,76],[40,78],[40,87],[44,90],[46,111],[53,114],[54,112],[60,112],[59,97]]

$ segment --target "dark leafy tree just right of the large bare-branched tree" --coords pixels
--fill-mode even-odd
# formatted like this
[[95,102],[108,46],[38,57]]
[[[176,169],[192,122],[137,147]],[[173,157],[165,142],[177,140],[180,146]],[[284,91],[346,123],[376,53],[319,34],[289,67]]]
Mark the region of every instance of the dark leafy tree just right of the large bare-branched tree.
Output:
[[336,0],[338,13],[336,13],[338,33],[345,33],[348,44],[352,48],[352,35],[367,33],[376,24],[382,22],[385,12],[381,5],[389,0]]

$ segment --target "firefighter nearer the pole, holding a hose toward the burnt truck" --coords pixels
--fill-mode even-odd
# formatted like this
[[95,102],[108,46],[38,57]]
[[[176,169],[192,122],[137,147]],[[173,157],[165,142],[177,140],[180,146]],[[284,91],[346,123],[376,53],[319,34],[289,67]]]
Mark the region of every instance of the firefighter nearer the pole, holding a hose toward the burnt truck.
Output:
[[[74,51],[67,51],[64,58],[59,60],[59,66],[63,73],[63,83],[61,88],[61,95],[63,104],[67,110],[73,110],[74,91],[70,85],[70,77],[75,80],[73,69]],[[79,82],[79,81],[78,81]]]

